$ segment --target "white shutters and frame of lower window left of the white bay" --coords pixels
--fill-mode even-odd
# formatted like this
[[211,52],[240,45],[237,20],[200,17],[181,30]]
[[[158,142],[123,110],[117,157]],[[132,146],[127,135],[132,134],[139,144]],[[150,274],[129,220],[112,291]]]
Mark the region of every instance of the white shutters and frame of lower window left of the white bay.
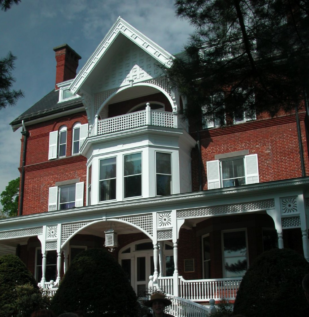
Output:
[[[82,207],[84,205],[84,182],[78,182],[75,184],[75,207]],[[73,184],[68,184],[73,185]],[[60,192],[59,189],[61,187],[65,187],[68,185],[63,186],[53,186],[49,187],[49,194],[48,194],[48,211],[55,211],[59,209],[59,197]]]

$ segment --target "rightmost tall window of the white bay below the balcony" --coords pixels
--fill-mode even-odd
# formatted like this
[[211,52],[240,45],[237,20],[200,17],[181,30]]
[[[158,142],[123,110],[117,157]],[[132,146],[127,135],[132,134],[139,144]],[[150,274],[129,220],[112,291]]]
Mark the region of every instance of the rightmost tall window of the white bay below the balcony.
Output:
[[170,195],[172,184],[171,153],[156,152],[156,194]]

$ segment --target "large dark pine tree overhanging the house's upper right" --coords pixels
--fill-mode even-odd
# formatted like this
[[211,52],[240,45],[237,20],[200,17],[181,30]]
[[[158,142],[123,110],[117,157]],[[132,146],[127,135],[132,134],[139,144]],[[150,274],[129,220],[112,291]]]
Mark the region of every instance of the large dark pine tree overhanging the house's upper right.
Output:
[[308,1],[176,0],[176,10],[196,27],[165,69],[186,97],[185,117],[274,116],[307,101]]

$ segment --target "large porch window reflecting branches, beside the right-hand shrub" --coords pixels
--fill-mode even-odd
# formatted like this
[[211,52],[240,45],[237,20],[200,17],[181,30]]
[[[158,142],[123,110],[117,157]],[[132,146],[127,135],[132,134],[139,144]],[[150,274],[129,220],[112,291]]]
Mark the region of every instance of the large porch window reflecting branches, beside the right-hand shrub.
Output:
[[241,277],[247,264],[246,232],[231,231],[223,233],[223,260],[225,277]]

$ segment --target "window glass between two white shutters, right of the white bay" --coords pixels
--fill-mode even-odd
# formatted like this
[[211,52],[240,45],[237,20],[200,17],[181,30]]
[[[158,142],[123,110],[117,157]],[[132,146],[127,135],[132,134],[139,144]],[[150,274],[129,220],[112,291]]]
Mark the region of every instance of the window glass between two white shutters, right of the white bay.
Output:
[[221,161],[222,187],[234,187],[246,184],[243,158]]

